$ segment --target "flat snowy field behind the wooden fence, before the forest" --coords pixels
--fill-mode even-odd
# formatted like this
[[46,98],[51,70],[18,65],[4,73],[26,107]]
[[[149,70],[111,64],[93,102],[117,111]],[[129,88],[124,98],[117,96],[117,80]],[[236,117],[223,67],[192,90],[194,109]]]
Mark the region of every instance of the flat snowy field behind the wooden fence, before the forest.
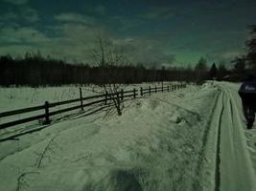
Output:
[[[174,84],[177,84],[175,82]],[[166,87],[170,85],[171,82],[164,82],[163,85]],[[149,88],[149,86],[161,87],[161,83],[143,83],[143,84],[133,84],[133,85],[121,85],[121,87],[126,90],[132,90],[133,88],[139,89],[140,87]],[[1,88],[0,87],[0,112],[16,110],[27,107],[34,107],[36,105],[43,105],[47,100],[51,102],[58,102],[73,98],[80,97],[80,86],[61,86],[61,87],[40,87],[40,88],[30,88],[30,87],[13,87],[13,88]],[[82,96],[93,96],[100,92],[98,86],[82,86]]]

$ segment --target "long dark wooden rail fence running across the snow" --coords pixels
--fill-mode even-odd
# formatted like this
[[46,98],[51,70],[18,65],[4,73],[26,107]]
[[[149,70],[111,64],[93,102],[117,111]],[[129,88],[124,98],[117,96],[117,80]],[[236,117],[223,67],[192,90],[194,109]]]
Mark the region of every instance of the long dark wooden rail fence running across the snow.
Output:
[[[12,117],[12,116],[16,116],[16,115],[23,115],[23,114],[27,114],[27,113],[31,113],[31,112],[35,112],[35,111],[43,111],[43,113],[44,113],[42,115],[37,115],[37,116],[33,116],[33,117],[23,117],[21,119],[16,119],[11,122],[2,123],[2,124],[0,124],[0,129],[6,129],[6,128],[14,126],[14,125],[18,125],[18,124],[22,124],[22,123],[26,123],[26,122],[30,122],[30,121],[34,121],[34,120],[39,120],[42,118],[44,119],[44,124],[50,124],[51,123],[50,117],[56,116],[61,113],[78,110],[78,109],[83,111],[83,109],[85,107],[97,105],[100,103],[104,103],[105,105],[107,105],[111,101],[112,96],[120,97],[121,101],[124,101],[125,98],[128,98],[128,97],[136,98],[138,96],[151,95],[151,94],[156,94],[159,92],[171,92],[176,89],[181,89],[181,88],[185,88],[185,87],[186,87],[186,84],[172,84],[172,85],[168,85],[168,86],[163,86],[163,84],[162,84],[160,87],[157,87],[157,86],[154,86],[154,87],[149,86],[149,88],[141,87],[139,90],[137,90],[137,89],[133,89],[130,91],[121,90],[120,92],[117,92],[115,94],[103,94],[103,95],[86,96],[86,97],[82,96],[82,92],[81,92],[81,88],[80,88],[80,97],[79,98],[60,101],[60,102],[54,102],[54,103],[45,101],[45,103],[43,105],[0,113],[0,118]],[[56,106],[62,106],[62,105],[70,104],[70,103],[78,103],[78,105],[51,112],[51,109]]]

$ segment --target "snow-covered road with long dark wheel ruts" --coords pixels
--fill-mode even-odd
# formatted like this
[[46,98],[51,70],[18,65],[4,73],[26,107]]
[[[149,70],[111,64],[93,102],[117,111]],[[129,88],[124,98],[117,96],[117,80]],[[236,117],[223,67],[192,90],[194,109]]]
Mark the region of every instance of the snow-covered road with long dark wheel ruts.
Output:
[[237,89],[219,84],[212,119],[216,127],[215,190],[256,190],[255,171],[246,146],[244,120]]

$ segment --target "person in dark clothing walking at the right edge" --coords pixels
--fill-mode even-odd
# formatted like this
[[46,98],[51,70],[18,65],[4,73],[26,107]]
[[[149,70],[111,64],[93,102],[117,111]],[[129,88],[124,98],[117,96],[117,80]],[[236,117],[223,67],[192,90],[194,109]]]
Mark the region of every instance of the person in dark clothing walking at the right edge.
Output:
[[249,75],[241,85],[239,95],[242,98],[244,117],[247,120],[247,129],[251,129],[256,112],[256,80],[254,75]]

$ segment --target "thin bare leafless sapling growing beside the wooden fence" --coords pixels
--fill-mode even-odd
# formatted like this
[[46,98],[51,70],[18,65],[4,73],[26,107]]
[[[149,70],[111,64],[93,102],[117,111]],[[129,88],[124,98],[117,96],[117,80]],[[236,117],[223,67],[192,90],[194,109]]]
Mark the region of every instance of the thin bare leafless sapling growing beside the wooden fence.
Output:
[[115,46],[106,35],[98,33],[97,47],[93,49],[93,57],[101,70],[101,79],[93,91],[105,94],[107,100],[110,101],[111,107],[107,110],[107,115],[116,112],[118,116],[121,116],[124,102],[122,101],[122,84],[120,83],[122,76],[118,73],[118,68],[125,64],[123,49]]

